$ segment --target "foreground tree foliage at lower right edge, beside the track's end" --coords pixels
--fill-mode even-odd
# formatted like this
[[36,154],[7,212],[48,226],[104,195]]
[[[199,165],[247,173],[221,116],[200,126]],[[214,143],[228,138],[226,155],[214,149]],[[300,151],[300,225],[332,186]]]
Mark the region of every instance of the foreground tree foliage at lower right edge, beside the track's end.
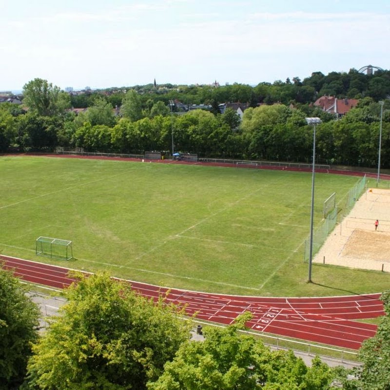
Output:
[[356,389],[390,389],[390,290],[381,296],[385,315],[381,318],[374,337],[363,342],[359,350],[363,367],[357,369]]

